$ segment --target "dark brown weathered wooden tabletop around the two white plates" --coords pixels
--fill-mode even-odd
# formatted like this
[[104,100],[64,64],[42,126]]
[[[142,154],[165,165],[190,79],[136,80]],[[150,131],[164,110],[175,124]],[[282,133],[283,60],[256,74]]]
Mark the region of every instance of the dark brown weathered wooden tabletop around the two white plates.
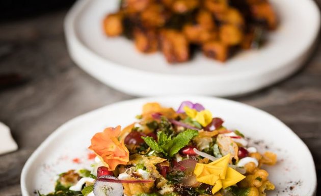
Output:
[[[63,32],[66,11],[0,24],[0,74],[18,73],[23,79],[0,89],[0,121],[12,129],[19,145],[18,151],[0,156],[0,195],[21,195],[23,164],[64,122],[135,98],[101,84],[71,61]],[[321,44],[316,45],[295,75],[232,100],[269,112],[296,132],[312,152],[321,181]]]

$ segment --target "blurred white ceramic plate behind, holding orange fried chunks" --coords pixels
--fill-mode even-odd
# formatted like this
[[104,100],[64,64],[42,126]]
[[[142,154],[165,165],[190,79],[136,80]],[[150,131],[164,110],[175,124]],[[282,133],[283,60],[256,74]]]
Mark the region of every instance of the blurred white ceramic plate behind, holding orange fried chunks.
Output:
[[295,72],[309,55],[320,20],[312,0],[270,0],[281,20],[258,51],[239,53],[225,64],[198,53],[170,65],[163,54],[144,55],[124,37],[108,38],[102,19],[119,0],[79,0],[65,20],[72,59],[101,82],[132,95],[231,96],[271,85]]

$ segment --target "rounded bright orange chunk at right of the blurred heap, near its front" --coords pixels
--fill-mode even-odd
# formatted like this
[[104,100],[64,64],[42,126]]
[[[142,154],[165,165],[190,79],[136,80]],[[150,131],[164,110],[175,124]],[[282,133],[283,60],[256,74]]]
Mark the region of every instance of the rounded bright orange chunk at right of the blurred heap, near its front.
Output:
[[224,24],[220,28],[220,38],[226,45],[237,45],[243,39],[243,33],[232,24]]

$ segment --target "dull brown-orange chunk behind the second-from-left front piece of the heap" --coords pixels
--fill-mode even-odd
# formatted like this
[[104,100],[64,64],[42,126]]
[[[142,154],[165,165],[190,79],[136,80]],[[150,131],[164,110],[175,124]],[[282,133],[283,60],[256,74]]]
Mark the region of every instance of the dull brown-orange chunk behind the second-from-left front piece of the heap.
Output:
[[141,20],[147,27],[162,27],[169,18],[164,5],[151,4],[141,12]]

